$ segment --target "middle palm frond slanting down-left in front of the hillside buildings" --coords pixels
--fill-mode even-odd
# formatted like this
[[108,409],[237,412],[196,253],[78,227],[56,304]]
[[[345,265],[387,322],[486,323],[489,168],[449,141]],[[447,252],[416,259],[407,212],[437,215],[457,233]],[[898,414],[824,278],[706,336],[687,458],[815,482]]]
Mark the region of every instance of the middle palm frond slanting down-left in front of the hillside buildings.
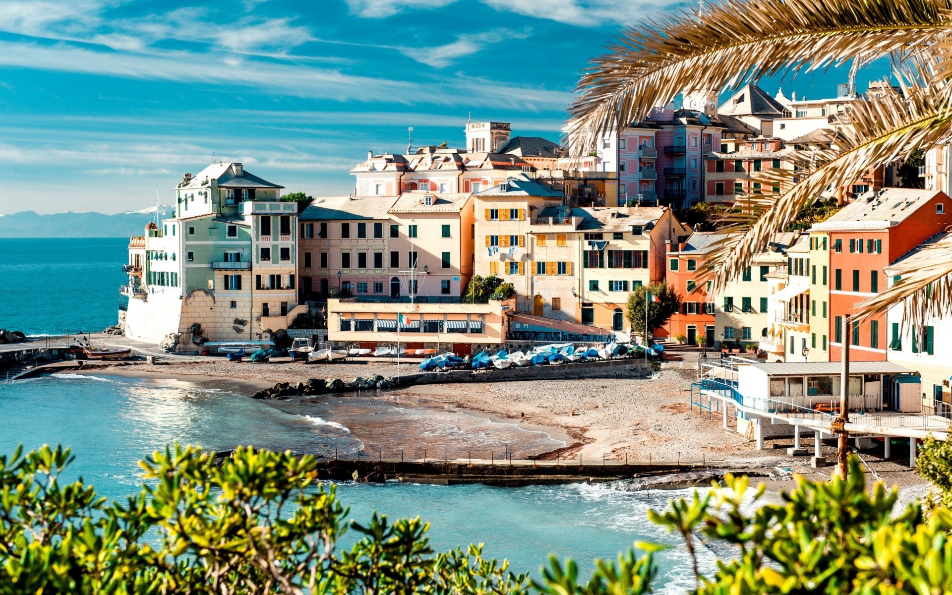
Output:
[[952,86],[937,83],[889,90],[879,98],[854,102],[849,115],[852,127],[841,131],[839,149],[823,151],[818,167],[765,208],[743,239],[724,243],[711,254],[709,262],[718,266],[713,277],[715,289],[736,277],[754,254],[793,222],[804,205],[827,188],[848,186],[868,169],[904,159],[913,150],[948,136]]

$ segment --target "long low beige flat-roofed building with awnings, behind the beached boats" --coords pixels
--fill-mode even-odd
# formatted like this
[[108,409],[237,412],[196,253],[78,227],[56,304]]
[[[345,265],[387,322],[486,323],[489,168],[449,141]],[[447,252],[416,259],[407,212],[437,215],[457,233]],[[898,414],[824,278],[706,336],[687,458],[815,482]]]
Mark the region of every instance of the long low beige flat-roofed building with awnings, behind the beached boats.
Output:
[[506,342],[506,313],[512,309],[512,300],[446,306],[330,299],[327,340],[339,347],[372,349],[399,342],[407,349],[435,348],[468,355],[474,347]]

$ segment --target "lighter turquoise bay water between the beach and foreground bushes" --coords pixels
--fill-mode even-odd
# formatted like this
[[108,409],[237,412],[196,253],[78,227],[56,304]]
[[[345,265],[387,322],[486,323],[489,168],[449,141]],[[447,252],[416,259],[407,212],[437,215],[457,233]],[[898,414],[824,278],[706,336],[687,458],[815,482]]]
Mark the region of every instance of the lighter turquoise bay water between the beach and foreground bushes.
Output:
[[[410,419],[402,407],[384,404],[377,409],[374,424]],[[70,445],[76,455],[73,476],[82,476],[111,498],[140,485],[139,459],[176,440],[218,450],[253,444],[327,453],[334,447],[352,448],[360,438],[356,429],[351,433],[335,425],[327,411],[321,413],[332,424],[314,424],[299,410],[287,412],[226,391],[169,380],[64,374],[18,381],[0,385],[0,411],[5,426],[0,452],[9,453],[20,443],[29,448]],[[349,415],[351,423],[359,423],[353,411]],[[448,412],[441,415],[441,423],[457,428],[460,442],[485,433],[485,425],[465,413],[457,413],[459,419]],[[495,427],[490,433],[505,431]],[[526,440],[549,439],[541,435]],[[506,558],[515,569],[536,575],[549,553],[572,557],[589,568],[595,558],[613,558],[635,540],[677,543],[645,519],[648,506],[664,506],[673,493],[632,494],[605,485],[344,483],[338,494],[354,519],[367,520],[374,510],[391,518],[420,515],[432,524],[430,538],[437,549],[483,542],[489,556]],[[660,566],[666,584],[661,592],[684,592],[690,585],[681,548],[665,552]]]

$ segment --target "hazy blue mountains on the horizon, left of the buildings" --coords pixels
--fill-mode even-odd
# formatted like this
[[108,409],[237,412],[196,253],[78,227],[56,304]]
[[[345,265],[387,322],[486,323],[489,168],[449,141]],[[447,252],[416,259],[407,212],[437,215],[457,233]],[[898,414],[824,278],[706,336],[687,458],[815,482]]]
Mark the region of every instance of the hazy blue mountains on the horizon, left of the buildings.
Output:
[[[107,215],[99,212],[66,211],[40,215],[22,210],[0,215],[0,238],[121,238],[142,235],[149,221],[155,219],[155,207]],[[168,218],[173,208],[158,208],[159,220]]]

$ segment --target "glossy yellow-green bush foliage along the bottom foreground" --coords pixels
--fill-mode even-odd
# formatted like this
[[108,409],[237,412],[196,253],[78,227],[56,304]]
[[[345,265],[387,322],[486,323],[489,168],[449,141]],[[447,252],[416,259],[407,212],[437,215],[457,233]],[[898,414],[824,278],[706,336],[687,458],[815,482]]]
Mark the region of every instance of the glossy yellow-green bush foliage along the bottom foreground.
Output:
[[[638,595],[651,592],[663,548],[597,561],[584,585],[574,562],[553,557],[530,581],[483,558],[482,545],[434,553],[419,518],[347,524],[310,456],[248,447],[222,460],[176,445],[142,462],[147,485],[125,502],[62,481],[70,460],[47,446],[0,457],[0,593]],[[952,514],[893,516],[895,493],[867,490],[856,459],[848,481],[798,478],[781,504],[752,512],[747,479],[725,484],[649,512],[684,539],[699,594],[952,590]],[[339,550],[347,530],[360,539]],[[737,555],[703,576],[699,539]]]

